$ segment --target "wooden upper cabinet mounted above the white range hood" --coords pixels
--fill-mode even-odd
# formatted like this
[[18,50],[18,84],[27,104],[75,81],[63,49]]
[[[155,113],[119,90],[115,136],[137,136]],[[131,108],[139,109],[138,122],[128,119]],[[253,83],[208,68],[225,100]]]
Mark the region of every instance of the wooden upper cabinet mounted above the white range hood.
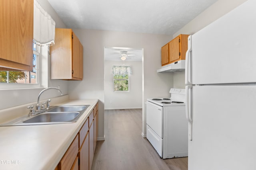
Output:
[[180,34],[161,48],[162,66],[186,59],[188,36]]

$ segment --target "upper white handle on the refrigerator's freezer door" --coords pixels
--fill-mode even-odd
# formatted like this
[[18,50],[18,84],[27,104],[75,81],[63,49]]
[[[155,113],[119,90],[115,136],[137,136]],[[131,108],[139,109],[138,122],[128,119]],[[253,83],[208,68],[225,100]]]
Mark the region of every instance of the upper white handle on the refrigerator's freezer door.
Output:
[[188,51],[186,52],[186,60],[185,60],[185,84],[192,85],[191,76],[189,70],[190,68],[190,58],[191,58],[191,35],[188,36]]

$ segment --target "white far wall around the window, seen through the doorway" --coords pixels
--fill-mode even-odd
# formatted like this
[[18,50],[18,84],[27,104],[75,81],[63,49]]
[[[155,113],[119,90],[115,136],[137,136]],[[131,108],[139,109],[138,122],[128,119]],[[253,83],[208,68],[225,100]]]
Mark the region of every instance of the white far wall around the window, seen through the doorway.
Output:
[[[129,92],[114,92],[112,66],[131,66]],[[142,108],[142,61],[105,61],[104,64],[105,109]]]

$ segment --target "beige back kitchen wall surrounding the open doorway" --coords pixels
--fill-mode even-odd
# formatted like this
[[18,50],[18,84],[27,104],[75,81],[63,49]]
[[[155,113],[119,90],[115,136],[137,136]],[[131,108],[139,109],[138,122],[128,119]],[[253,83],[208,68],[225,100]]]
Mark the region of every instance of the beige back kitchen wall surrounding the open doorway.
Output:
[[[161,67],[161,47],[172,39],[171,35],[128,33],[118,31],[99,31],[88,29],[73,29],[84,47],[84,79],[68,82],[70,98],[98,98],[99,103],[99,133],[104,137],[104,47],[127,47],[144,49],[144,81],[142,82],[142,100],[162,97],[169,94],[173,85],[173,76],[156,73]],[[142,101],[142,104],[144,102]],[[146,133],[146,114],[144,105],[143,129]]]

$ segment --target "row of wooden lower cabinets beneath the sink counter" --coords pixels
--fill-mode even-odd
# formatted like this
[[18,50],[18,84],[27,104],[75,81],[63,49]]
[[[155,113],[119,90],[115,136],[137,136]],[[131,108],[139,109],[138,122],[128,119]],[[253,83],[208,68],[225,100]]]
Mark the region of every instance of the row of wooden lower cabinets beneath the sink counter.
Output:
[[98,136],[98,103],[55,170],[91,170]]

